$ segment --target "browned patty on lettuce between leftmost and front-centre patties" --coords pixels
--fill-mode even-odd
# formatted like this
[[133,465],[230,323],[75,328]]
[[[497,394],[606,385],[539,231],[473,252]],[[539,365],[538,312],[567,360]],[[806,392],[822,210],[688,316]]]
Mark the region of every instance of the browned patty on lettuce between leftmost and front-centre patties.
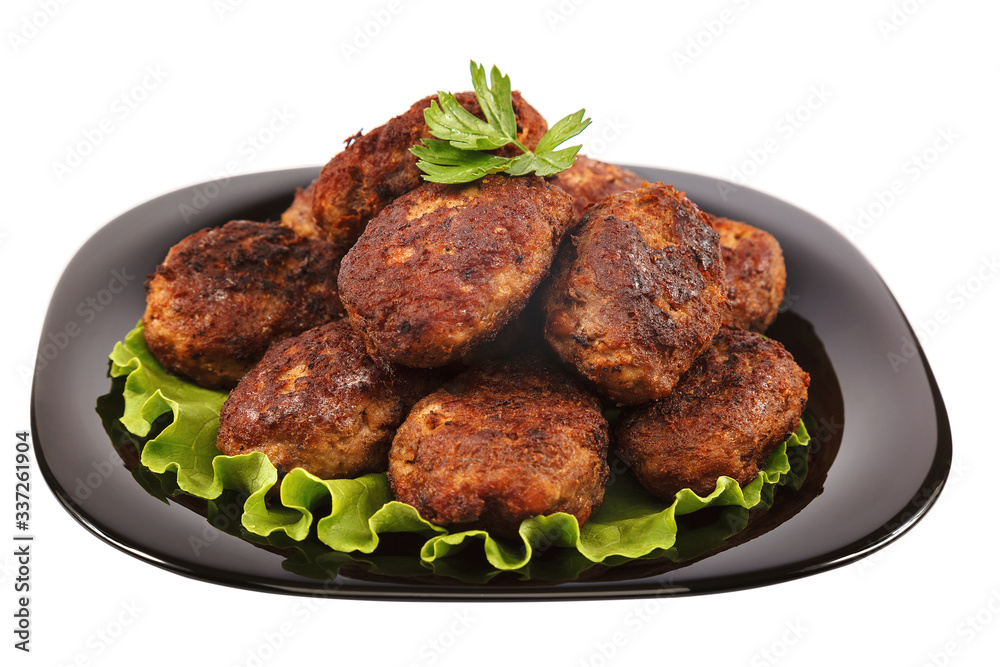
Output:
[[244,376],[222,406],[217,446],[263,452],[281,474],[384,472],[396,427],[434,375],[370,357],[347,320],[331,322],[275,344]]

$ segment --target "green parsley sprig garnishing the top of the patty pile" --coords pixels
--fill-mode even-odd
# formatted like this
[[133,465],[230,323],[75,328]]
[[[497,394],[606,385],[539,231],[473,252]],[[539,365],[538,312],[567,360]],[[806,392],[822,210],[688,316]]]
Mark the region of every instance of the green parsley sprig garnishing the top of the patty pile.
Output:
[[[436,139],[425,139],[410,151],[419,159],[424,180],[435,183],[467,183],[487,174],[523,176],[532,172],[551,176],[573,166],[582,146],[558,148],[583,132],[590,119],[584,109],[560,119],[549,128],[535,150],[517,140],[517,118],[510,96],[510,77],[496,65],[486,80],[486,68],[470,61],[472,85],[486,120],[472,115],[451,93],[438,93],[424,110],[424,120]],[[501,157],[485,151],[514,145],[520,155]]]

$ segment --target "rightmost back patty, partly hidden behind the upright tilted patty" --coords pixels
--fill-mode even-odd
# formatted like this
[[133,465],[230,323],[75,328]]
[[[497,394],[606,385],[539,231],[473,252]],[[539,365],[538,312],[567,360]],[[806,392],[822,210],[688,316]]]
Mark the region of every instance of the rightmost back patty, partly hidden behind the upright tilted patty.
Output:
[[729,308],[723,326],[764,331],[785,298],[785,258],[778,240],[745,222],[708,215],[719,234]]

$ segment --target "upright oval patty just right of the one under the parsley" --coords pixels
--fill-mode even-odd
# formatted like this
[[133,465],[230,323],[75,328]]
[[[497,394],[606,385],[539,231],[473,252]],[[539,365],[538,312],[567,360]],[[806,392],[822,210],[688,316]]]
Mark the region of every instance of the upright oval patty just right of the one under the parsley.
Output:
[[545,338],[606,397],[670,393],[719,330],[719,236],[684,193],[655,183],[591,206],[543,288]]

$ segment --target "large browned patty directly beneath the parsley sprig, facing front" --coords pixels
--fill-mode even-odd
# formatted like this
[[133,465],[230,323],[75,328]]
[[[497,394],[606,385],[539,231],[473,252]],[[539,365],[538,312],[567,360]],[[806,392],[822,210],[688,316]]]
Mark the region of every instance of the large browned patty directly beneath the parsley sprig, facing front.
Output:
[[340,293],[369,350],[433,368],[493,338],[538,287],[571,219],[537,176],[427,183],[396,199],[344,257]]

